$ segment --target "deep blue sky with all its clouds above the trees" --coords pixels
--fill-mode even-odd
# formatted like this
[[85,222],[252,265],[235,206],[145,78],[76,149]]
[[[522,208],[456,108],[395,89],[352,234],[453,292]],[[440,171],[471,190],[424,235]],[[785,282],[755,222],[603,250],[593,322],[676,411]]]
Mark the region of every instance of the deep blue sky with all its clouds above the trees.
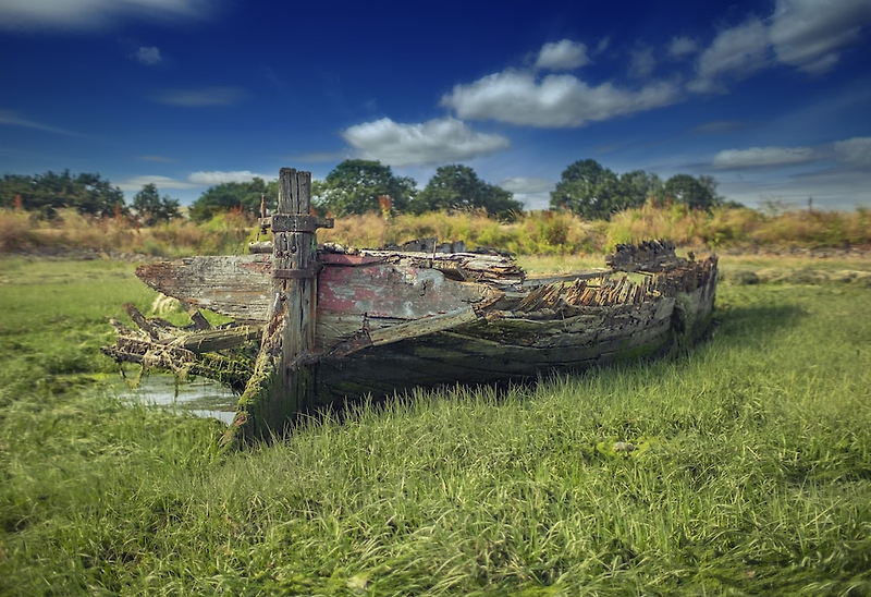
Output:
[[195,200],[282,167],[465,163],[547,207],[592,158],[871,205],[871,0],[0,0],[0,173]]

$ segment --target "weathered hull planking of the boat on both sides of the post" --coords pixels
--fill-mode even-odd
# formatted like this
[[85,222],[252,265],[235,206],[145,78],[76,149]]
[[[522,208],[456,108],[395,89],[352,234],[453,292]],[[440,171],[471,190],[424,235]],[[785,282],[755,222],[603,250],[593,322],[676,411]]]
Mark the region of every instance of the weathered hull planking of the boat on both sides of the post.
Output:
[[[551,283],[525,280],[504,257],[364,252],[320,260],[315,405],[653,354],[699,333],[716,284],[715,258],[675,258],[635,281],[597,270]],[[268,256],[195,257],[137,273],[188,305],[266,322]]]

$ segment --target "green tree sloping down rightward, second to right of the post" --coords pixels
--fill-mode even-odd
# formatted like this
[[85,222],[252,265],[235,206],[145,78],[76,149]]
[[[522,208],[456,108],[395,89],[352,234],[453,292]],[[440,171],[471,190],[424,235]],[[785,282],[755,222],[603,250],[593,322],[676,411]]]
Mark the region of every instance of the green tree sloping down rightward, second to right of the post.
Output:
[[478,178],[468,166],[442,166],[418,193],[409,209],[415,214],[438,210],[483,208],[488,214],[511,218],[524,205],[514,200],[512,193]]

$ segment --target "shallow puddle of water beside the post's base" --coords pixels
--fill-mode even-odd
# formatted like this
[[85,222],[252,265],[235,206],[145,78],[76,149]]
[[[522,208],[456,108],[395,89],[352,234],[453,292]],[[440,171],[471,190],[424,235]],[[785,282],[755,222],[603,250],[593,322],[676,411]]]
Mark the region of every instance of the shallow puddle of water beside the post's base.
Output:
[[238,395],[231,389],[201,377],[181,381],[172,375],[152,374],[144,377],[137,388],[119,380],[112,391],[122,400],[184,409],[196,416],[217,418],[226,425],[233,423],[238,402]]

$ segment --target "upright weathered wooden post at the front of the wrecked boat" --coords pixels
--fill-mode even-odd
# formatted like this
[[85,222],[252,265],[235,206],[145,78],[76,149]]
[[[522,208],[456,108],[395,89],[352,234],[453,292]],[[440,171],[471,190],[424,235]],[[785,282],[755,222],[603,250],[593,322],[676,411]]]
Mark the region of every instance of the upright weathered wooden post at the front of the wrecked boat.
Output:
[[310,215],[310,196],[311,172],[281,169],[277,212],[261,222],[273,233],[267,326],[224,444],[279,435],[295,414],[314,406],[320,267],[315,232],[333,222]]

